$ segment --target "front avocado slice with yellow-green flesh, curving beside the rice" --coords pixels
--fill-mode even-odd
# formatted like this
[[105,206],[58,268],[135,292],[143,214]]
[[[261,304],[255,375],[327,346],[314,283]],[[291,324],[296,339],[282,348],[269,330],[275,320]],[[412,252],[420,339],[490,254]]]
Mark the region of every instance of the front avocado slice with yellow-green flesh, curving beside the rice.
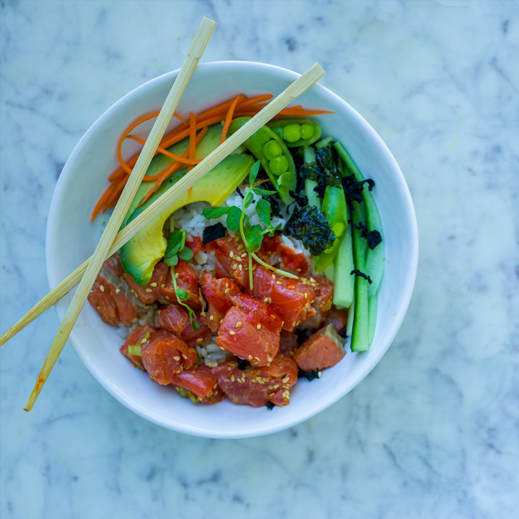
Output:
[[[126,242],[121,247],[121,264],[133,281],[144,286],[151,279],[155,265],[166,251],[167,241],[162,228],[177,209],[188,203],[200,201],[209,202],[214,207],[221,206],[249,174],[253,165],[254,158],[251,155],[229,155]],[[171,176],[141,207],[134,210],[128,222],[142,213],[184,174],[185,170]]]

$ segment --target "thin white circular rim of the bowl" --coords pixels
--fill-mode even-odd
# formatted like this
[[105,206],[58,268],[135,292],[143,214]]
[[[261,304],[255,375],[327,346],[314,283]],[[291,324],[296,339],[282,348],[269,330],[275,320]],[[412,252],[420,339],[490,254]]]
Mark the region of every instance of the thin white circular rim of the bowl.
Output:
[[[229,69],[236,69],[238,67],[239,69],[247,69],[247,67],[254,67],[255,69],[263,69],[264,71],[269,71],[277,74],[282,74],[284,76],[293,77],[293,79],[296,79],[301,74],[298,74],[294,71],[291,71],[289,69],[285,69],[283,67],[277,66],[277,65],[271,65],[267,63],[261,63],[261,62],[253,62],[253,61],[237,61],[237,60],[224,60],[224,61],[212,61],[212,62],[206,62],[206,63],[200,63],[198,65],[199,69],[202,69],[203,71],[225,71]],[[133,90],[129,91],[127,94],[125,94],[123,97],[118,99],[115,103],[113,103],[110,107],[108,107],[95,121],[92,123],[92,125],[88,128],[88,130],[81,136],[80,140],[74,147],[72,153],[70,154],[69,158],[67,158],[67,161],[65,162],[65,165],[63,167],[62,173],[60,174],[59,179],[56,184],[56,188],[54,189],[54,193],[52,195],[52,199],[49,206],[49,212],[48,212],[48,218],[47,218],[47,226],[46,226],[46,240],[45,240],[45,258],[46,258],[46,267],[47,267],[47,279],[49,286],[53,288],[53,286],[56,286],[56,284],[60,281],[57,280],[54,276],[54,273],[52,272],[52,262],[51,262],[51,255],[52,255],[52,248],[51,248],[51,242],[49,240],[49,235],[51,233],[52,227],[56,223],[56,219],[58,218],[56,208],[58,204],[58,200],[62,196],[62,190],[65,187],[65,177],[68,175],[69,169],[71,168],[71,164],[74,163],[75,158],[77,154],[79,153],[79,150],[83,147],[83,144],[85,141],[87,141],[90,137],[90,135],[95,134],[95,132],[98,131],[98,128],[102,127],[105,123],[105,121],[110,120],[111,116],[116,113],[119,110],[119,107],[121,105],[124,105],[127,103],[127,101],[134,97],[139,96],[140,92],[143,90],[146,90],[153,86],[155,83],[161,83],[165,80],[171,80],[171,84],[173,83],[174,78],[178,75],[180,72],[180,69],[176,69],[170,72],[166,72],[165,74],[161,74],[157,77],[154,77],[152,79],[149,79],[142,85],[134,88]],[[189,425],[183,425],[181,423],[175,423],[171,424],[171,422],[166,423],[163,420],[160,420],[157,417],[151,416],[149,414],[149,411],[146,408],[143,408],[141,405],[139,405],[137,402],[131,400],[128,398],[128,396],[124,393],[122,393],[114,384],[110,383],[110,380],[106,379],[106,376],[99,370],[99,367],[90,361],[88,356],[84,356],[81,354],[82,348],[78,341],[76,340],[74,333],[71,334],[71,337],[69,338],[69,341],[71,342],[74,350],[78,354],[79,358],[81,359],[81,362],[83,362],[88,371],[94,376],[95,379],[98,380],[98,382],[108,391],[108,393],[112,394],[112,396],[118,400],[120,403],[128,407],[131,411],[138,414],[139,416],[145,418],[148,421],[154,422],[157,425],[160,425],[162,427],[175,430],[177,432],[182,432],[186,434],[196,435],[196,436],[204,436],[208,438],[228,438],[228,439],[236,439],[236,438],[247,438],[252,436],[259,436],[264,434],[270,434],[274,432],[278,432],[280,430],[284,430],[290,427],[293,427],[297,424],[300,424],[301,422],[309,419],[312,416],[317,415],[318,413],[322,412],[327,407],[330,407],[338,400],[342,399],[351,389],[356,387],[362,379],[366,377],[368,373],[370,373],[373,368],[377,365],[379,360],[384,356],[387,349],[393,342],[395,336],[398,333],[398,330],[400,329],[400,326],[404,320],[406,311],[408,309],[408,306],[411,302],[411,297],[413,294],[414,284],[416,281],[416,274],[418,269],[418,226],[416,221],[416,214],[413,206],[413,201],[411,198],[411,193],[409,192],[409,188],[407,186],[407,183],[405,181],[404,175],[402,171],[400,170],[400,167],[397,163],[397,161],[394,159],[393,155],[391,154],[389,148],[385,144],[385,142],[381,139],[381,137],[378,135],[378,133],[372,128],[372,126],[356,111],[354,108],[346,102],[344,99],[340,98],[337,94],[332,92],[330,89],[320,85],[317,83],[312,88],[319,88],[322,89],[322,91],[331,99],[334,100],[335,103],[339,103],[344,105],[344,107],[347,108],[352,114],[354,114],[363,124],[365,129],[368,133],[370,133],[370,136],[372,139],[378,142],[378,145],[384,149],[385,154],[387,156],[387,160],[391,163],[391,167],[394,170],[394,172],[397,173],[395,176],[395,180],[398,181],[399,189],[401,192],[401,195],[405,201],[406,205],[406,213],[408,214],[408,221],[406,222],[406,225],[408,227],[408,232],[411,236],[412,243],[411,243],[411,250],[409,251],[409,270],[408,275],[405,278],[405,283],[402,286],[402,293],[403,298],[399,307],[398,316],[396,319],[393,320],[392,326],[389,330],[389,333],[385,337],[385,343],[386,346],[384,348],[380,348],[377,351],[377,354],[374,355],[371,359],[371,362],[366,363],[362,370],[358,372],[357,377],[355,377],[352,380],[352,383],[350,384],[349,389],[344,393],[338,393],[333,395],[333,397],[330,397],[326,399],[325,401],[321,402],[319,405],[313,406],[311,409],[301,413],[297,417],[294,417],[293,419],[285,419],[280,420],[280,423],[276,427],[270,427],[270,428],[264,428],[262,427],[262,424],[258,424],[257,427],[254,430],[250,431],[227,431],[227,432],[213,432],[208,429],[203,429],[199,427],[193,427]],[[55,305],[54,308],[57,311],[58,318],[60,321],[63,318],[63,311],[58,307],[58,305]]]

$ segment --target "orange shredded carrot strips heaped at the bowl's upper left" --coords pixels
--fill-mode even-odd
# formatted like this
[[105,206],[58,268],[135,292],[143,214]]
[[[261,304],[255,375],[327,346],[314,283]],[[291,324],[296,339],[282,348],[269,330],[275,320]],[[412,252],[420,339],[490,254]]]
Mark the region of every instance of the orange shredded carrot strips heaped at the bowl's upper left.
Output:
[[[267,104],[268,100],[272,98],[271,94],[256,95],[255,97],[246,98],[243,94],[238,94],[236,97],[229,101],[225,101],[216,106],[208,108],[200,114],[189,114],[189,119],[186,120],[180,115],[173,114],[177,119],[181,121],[181,124],[170,130],[166,135],[163,136],[155,156],[158,154],[166,155],[173,159],[166,168],[155,175],[145,175],[143,180],[154,181],[154,186],[146,194],[144,203],[156,190],[160,187],[163,181],[165,181],[173,173],[181,170],[186,165],[188,170],[192,169],[196,164],[200,162],[195,158],[196,146],[203,138],[203,135],[207,132],[208,127],[222,124],[222,137],[220,143],[222,143],[229,129],[230,122],[237,117],[254,117],[260,112]],[[326,110],[305,110],[301,105],[291,106],[281,110],[274,118],[279,117],[306,117],[311,115],[329,114]],[[124,189],[126,182],[132,172],[132,169],[139,158],[139,153],[134,155],[128,160],[122,157],[122,143],[126,139],[131,139],[140,144],[144,144],[145,140],[138,136],[131,135],[131,132],[141,125],[143,122],[153,119],[158,116],[158,113],[147,114],[139,117],[132,122],[128,128],[122,133],[118,144],[117,144],[117,160],[119,167],[108,176],[110,185],[104,191],[99,198],[98,202],[92,211],[92,221],[101,212],[105,212],[108,209],[115,206],[119,199],[122,190]],[[188,138],[188,147],[182,155],[176,155],[171,153],[167,148]],[[256,182],[256,184],[261,183]]]

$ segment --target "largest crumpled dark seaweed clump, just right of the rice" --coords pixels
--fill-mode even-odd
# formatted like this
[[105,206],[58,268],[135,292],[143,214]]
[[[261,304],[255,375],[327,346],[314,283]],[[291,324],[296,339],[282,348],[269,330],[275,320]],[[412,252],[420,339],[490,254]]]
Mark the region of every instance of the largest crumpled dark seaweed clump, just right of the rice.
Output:
[[313,256],[332,246],[335,234],[323,212],[315,206],[295,206],[284,232],[303,242]]

